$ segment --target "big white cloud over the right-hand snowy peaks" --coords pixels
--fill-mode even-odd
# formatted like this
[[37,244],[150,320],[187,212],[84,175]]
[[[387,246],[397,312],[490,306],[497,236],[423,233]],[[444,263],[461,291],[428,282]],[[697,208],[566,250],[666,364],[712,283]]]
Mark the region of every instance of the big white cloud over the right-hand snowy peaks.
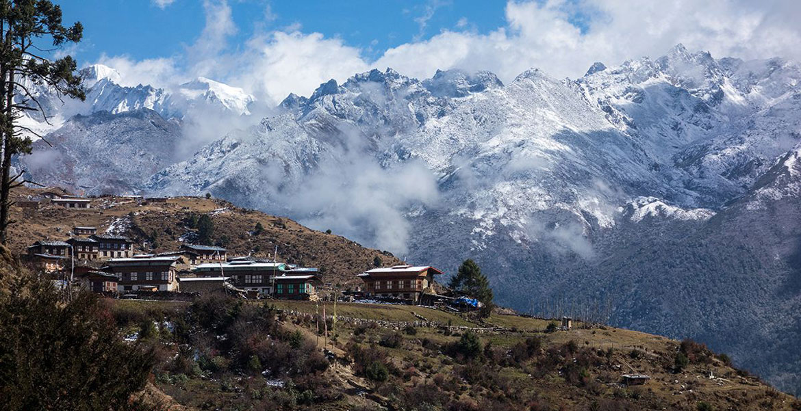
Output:
[[[582,33],[571,23],[575,10],[591,14]],[[638,2],[509,2],[506,26],[488,34],[449,30],[423,42],[387,52],[375,66],[428,77],[453,67],[490,70],[509,82],[530,67],[556,77],[578,77],[596,61],[616,65],[629,58],[658,57],[683,43],[690,50],[709,50],[718,57],[798,59],[795,2],[774,0]]]

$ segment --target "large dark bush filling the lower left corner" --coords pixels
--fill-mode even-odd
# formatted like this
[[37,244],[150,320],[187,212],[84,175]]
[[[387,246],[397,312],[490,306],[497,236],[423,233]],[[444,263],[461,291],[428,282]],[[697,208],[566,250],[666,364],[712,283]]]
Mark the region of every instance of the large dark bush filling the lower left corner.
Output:
[[95,295],[61,297],[35,277],[18,277],[0,293],[0,408],[136,409],[129,400],[147,382],[151,349],[123,341]]

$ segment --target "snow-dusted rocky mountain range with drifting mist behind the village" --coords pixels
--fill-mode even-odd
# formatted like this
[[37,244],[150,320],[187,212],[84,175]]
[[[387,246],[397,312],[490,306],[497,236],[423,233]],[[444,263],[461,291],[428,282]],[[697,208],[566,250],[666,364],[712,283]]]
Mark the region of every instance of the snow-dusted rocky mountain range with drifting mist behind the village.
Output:
[[40,90],[54,120],[24,119],[52,144],[19,159],[34,181],[210,193],[450,272],[472,257],[501,304],[693,337],[801,393],[795,62],[678,45],[578,79],[371,70],[277,107],[82,74],[86,102]]

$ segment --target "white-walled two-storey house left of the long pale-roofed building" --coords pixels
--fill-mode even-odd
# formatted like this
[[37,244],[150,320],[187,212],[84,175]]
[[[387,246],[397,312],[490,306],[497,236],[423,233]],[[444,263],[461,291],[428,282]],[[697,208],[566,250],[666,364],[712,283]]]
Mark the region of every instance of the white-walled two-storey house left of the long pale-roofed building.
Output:
[[108,261],[107,271],[119,277],[122,291],[177,291],[175,265],[181,257],[131,257]]

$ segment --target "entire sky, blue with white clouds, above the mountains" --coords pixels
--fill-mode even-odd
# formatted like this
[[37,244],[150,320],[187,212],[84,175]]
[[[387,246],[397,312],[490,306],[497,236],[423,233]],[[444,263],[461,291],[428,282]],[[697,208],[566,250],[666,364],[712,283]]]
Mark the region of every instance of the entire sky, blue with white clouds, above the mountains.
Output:
[[203,76],[280,102],[387,67],[414,78],[536,67],[582,76],[594,62],[658,58],[678,43],[714,57],[801,60],[797,0],[63,0],[85,38],[79,64],[127,86]]

